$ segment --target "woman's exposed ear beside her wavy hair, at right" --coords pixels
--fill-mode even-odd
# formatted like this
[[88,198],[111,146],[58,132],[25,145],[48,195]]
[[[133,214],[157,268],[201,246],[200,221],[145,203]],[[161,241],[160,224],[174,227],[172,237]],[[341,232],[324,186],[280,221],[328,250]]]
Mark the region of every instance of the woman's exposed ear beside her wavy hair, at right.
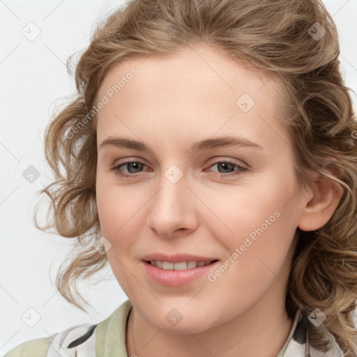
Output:
[[[342,179],[344,176],[344,172],[335,165],[328,166],[326,169],[338,179]],[[342,195],[343,189],[338,183],[314,172],[298,227],[302,231],[314,231],[326,225],[335,212]]]

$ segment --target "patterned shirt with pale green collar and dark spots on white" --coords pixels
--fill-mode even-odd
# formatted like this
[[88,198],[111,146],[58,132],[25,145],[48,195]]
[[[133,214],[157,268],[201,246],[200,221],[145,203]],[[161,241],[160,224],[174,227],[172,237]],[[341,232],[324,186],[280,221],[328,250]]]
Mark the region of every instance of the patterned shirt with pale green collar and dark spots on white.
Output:
[[[99,324],[72,326],[51,337],[29,340],[5,357],[134,357],[126,351],[126,323],[131,309],[132,304],[127,300]],[[309,324],[309,319],[298,310],[277,357],[343,357],[330,333],[326,336],[331,342],[328,352],[312,348],[307,338]]]

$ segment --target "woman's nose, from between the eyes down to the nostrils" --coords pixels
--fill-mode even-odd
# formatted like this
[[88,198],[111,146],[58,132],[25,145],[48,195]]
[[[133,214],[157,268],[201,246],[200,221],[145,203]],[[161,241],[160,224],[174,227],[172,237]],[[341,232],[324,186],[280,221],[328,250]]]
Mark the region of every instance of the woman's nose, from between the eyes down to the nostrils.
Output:
[[162,238],[190,234],[198,224],[197,201],[185,175],[175,183],[162,174],[160,189],[150,200],[147,225]]

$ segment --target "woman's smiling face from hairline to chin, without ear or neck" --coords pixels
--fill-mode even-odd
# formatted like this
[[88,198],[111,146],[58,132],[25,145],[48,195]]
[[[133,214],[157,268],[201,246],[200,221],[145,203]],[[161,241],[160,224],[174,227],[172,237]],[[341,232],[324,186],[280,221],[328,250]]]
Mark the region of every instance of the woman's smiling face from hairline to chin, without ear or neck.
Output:
[[97,99],[102,236],[143,319],[199,332],[283,308],[303,204],[271,74],[189,48],[119,63]]

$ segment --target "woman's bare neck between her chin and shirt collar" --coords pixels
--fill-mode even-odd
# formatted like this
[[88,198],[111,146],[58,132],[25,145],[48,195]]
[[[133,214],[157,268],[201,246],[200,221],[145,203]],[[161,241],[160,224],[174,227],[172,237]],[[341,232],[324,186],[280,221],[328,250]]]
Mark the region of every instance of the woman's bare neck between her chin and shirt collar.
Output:
[[[275,284],[282,282],[276,280]],[[273,291],[275,299],[269,296]],[[284,309],[284,291],[280,303],[276,303],[276,291],[277,287],[272,286],[261,301],[242,314],[199,333],[164,331],[132,307],[126,334],[128,357],[276,357],[293,322]],[[268,301],[275,303],[267,305]]]

